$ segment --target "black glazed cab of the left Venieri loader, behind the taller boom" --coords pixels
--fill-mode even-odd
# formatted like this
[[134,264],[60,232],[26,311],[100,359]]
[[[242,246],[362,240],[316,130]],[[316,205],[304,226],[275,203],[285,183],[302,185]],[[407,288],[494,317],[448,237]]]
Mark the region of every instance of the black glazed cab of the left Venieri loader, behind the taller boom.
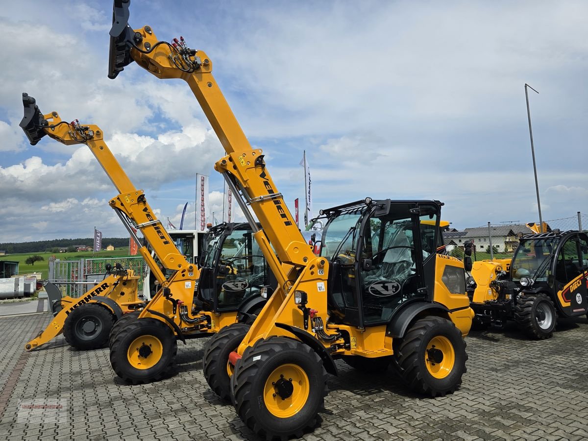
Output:
[[249,299],[268,298],[276,286],[248,223],[222,223],[209,230],[201,256],[198,299],[215,312],[240,309]]

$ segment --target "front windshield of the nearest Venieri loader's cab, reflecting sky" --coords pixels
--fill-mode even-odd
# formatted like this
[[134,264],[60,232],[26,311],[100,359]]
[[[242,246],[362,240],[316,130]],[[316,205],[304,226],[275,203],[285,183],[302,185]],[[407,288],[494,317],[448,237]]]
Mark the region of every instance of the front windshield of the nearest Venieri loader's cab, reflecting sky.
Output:
[[320,255],[329,259],[339,254],[355,256],[361,213],[345,213],[333,218],[322,234]]

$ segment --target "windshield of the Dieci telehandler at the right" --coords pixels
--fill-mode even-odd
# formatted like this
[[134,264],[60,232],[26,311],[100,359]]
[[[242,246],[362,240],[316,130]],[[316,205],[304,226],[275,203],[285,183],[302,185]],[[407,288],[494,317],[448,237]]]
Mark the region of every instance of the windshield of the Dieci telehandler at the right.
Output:
[[522,239],[510,266],[512,280],[517,282],[522,277],[529,277],[536,282],[546,282],[557,243],[559,238]]

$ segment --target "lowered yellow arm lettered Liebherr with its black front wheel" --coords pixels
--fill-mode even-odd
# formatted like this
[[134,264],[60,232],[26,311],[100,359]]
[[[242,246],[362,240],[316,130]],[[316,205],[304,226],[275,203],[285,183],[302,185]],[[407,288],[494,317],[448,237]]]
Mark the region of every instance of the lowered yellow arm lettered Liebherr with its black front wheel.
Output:
[[76,349],[98,349],[108,345],[111,329],[124,316],[146,305],[137,295],[138,276],[119,263],[106,265],[105,279],[79,298],[62,296],[61,290],[45,280],[49,309],[54,318],[45,330],[26,343],[25,350],[45,345],[61,333]]

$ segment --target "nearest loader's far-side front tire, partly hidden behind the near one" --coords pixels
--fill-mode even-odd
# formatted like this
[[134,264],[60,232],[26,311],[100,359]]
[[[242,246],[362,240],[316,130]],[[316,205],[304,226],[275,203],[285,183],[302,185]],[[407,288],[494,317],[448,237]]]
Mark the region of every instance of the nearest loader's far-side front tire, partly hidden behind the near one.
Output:
[[251,325],[246,323],[225,326],[204,346],[202,358],[204,377],[216,395],[226,402],[232,399],[228,372],[229,354],[239,347],[250,327]]

